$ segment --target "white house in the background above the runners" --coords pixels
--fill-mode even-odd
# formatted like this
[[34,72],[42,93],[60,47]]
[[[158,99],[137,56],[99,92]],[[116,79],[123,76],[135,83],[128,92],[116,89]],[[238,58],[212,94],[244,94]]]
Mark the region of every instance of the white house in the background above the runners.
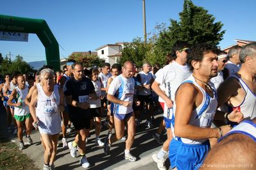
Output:
[[123,47],[123,42],[117,42],[115,44],[103,45],[96,50],[99,58],[105,59],[107,63],[113,65],[114,63],[117,63],[122,56],[121,50]]

